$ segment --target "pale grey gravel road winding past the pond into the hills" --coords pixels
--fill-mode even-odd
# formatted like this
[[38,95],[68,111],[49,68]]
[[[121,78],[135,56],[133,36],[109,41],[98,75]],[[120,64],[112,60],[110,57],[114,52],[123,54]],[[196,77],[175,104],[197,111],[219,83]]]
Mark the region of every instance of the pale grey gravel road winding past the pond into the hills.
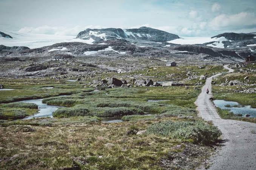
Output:
[[[228,72],[233,69],[225,65]],[[223,147],[210,159],[210,170],[247,170],[256,169],[256,123],[249,123],[237,120],[221,119],[216,108],[209,99],[211,95],[211,81],[213,77],[220,76],[221,73],[209,77],[202,93],[199,94],[195,104],[200,116],[204,120],[212,121],[222,131],[222,138],[225,140]],[[209,94],[206,94],[208,88]]]

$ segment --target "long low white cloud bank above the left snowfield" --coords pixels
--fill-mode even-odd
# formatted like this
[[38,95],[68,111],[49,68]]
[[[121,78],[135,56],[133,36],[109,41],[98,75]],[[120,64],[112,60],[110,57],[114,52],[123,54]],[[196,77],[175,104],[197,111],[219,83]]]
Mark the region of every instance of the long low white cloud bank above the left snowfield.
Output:
[[71,35],[76,36],[80,31],[87,28],[100,29],[102,26],[75,26],[71,28],[67,27],[50,27],[50,26],[40,26],[40,27],[23,27],[18,32],[20,33],[36,33],[36,34],[50,34],[50,35]]

